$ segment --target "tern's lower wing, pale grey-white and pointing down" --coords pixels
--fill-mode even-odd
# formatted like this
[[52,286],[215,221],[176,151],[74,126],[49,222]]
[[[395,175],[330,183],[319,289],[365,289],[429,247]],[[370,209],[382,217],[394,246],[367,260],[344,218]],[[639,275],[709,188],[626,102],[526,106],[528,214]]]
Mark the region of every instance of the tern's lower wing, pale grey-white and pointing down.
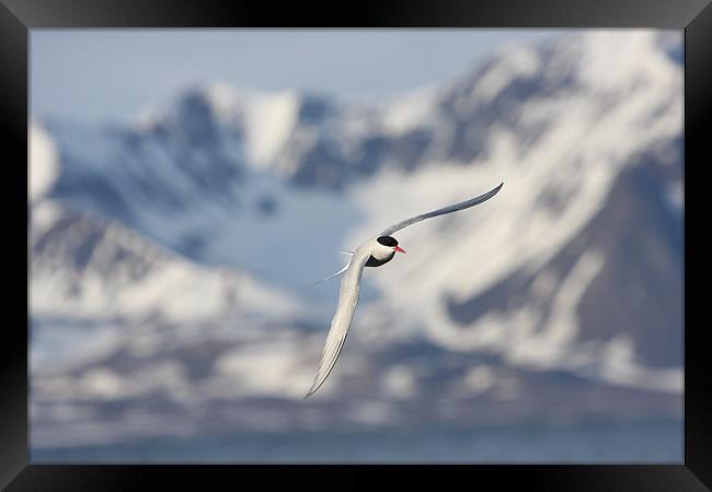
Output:
[[344,273],[344,278],[341,281],[336,313],[334,314],[334,318],[331,320],[331,328],[326,336],[326,344],[321,352],[319,372],[317,373],[314,383],[311,385],[305,399],[312,396],[317,389],[319,389],[324,380],[326,380],[326,377],[329,377],[331,370],[334,368],[336,359],[338,359],[338,354],[344,347],[344,341],[348,333],[348,327],[354,318],[356,303],[358,303],[358,293],[360,291],[364,266],[366,265],[366,261],[368,261],[370,253],[368,248],[360,247],[354,253],[354,256],[348,263],[346,273]]

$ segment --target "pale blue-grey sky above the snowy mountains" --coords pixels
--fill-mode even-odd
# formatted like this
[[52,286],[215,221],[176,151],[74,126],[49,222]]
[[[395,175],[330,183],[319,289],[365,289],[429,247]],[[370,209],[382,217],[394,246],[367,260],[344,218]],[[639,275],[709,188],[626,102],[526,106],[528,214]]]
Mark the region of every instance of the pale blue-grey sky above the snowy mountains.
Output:
[[372,97],[447,80],[543,30],[33,30],[31,110],[128,119],[186,86]]

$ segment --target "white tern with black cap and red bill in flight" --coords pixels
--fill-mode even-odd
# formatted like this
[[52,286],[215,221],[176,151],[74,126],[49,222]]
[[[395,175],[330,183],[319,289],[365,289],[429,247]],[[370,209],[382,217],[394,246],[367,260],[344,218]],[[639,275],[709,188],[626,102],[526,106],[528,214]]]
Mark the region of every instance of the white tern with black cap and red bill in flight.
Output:
[[324,279],[329,280],[344,273],[344,278],[341,281],[341,289],[338,291],[338,304],[336,305],[336,313],[334,314],[334,318],[331,321],[331,328],[329,329],[329,335],[326,336],[326,344],[321,352],[319,371],[317,373],[317,377],[314,378],[314,383],[311,385],[311,388],[309,389],[309,393],[307,393],[305,399],[312,396],[319,389],[319,387],[326,380],[326,377],[329,377],[331,371],[334,368],[336,359],[338,359],[338,354],[344,347],[344,341],[346,340],[346,335],[348,333],[348,327],[351,326],[351,321],[354,318],[354,313],[356,312],[356,303],[358,302],[358,293],[360,291],[360,281],[361,274],[364,273],[364,268],[380,267],[392,260],[395,256],[395,253],[405,253],[398,245],[398,241],[392,237],[391,234],[400,231],[401,229],[407,227],[411,224],[424,221],[425,219],[445,215],[446,213],[457,212],[459,210],[469,209],[470,207],[482,203],[483,201],[486,201],[490,198],[494,197],[503,186],[504,183],[499,184],[499,186],[492,189],[491,191],[487,191],[484,195],[480,195],[479,197],[474,197],[469,200],[451,204],[449,207],[444,207],[432,212],[405,219],[395,225],[391,225],[386,231],[381,232],[377,237],[368,239],[366,243],[358,246],[355,251],[342,251],[351,255],[351,259],[346,267],[333,276]]

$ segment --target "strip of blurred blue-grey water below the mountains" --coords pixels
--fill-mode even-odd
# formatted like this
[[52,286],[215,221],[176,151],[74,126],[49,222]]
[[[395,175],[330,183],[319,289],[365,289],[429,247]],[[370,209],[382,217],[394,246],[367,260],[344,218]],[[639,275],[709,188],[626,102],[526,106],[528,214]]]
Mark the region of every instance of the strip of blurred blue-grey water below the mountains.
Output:
[[76,464],[681,464],[682,458],[682,422],[676,420],[239,433],[32,450],[32,462]]

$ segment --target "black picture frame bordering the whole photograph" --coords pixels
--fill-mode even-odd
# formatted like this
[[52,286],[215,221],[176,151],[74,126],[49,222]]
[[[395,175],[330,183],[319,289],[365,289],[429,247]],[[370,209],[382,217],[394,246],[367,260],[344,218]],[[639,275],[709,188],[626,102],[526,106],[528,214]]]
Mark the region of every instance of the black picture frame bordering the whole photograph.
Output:
[[[712,488],[712,406],[709,393],[712,378],[710,343],[701,321],[700,304],[691,295],[691,282],[700,280],[702,239],[690,220],[698,216],[693,188],[696,174],[709,165],[709,137],[704,129],[712,116],[712,7],[709,0],[457,0],[363,1],[357,4],[333,2],[307,5],[303,2],[271,4],[229,0],[0,0],[0,97],[5,171],[13,181],[4,194],[20,203],[27,190],[27,174],[20,163],[27,162],[28,124],[28,36],[33,28],[101,27],[628,27],[685,31],[685,460],[682,465],[604,466],[457,466],[448,467],[449,480],[466,480],[471,488],[496,480],[497,488],[524,484],[541,490],[645,490],[682,491]],[[708,124],[708,125],[705,125]],[[12,151],[8,154],[7,150]],[[16,173],[16,174],[15,174]],[[692,190],[690,192],[690,190]],[[18,196],[15,196],[18,195]],[[26,197],[24,198],[26,199]],[[692,201],[690,201],[692,200]],[[18,206],[20,207],[20,206]],[[27,222],[30,223],[30,210]],[[21,220],[21,214],[11,214]],[[700,214],[701,215],[701,214]],[[698,219],[699,221],[699,219]],[[21,242],[5,235],[11,251],[5,258],[27,255]],[[16,243],[16,246],[14,245]],[[16,247],[16,249],[15,249]],[[10,256],[12,255],[12,256]],[[696,268],[691,267],[696,261]],[[16,262],[10,260],[10,262]],[[25,279],[28,278],[28,263]],[[28,280],[27,280],[28,281]],[[15,283],[11,292],[19,291]],[[28,292],[28,290],[26,290]],[[28,293],[27,293],[28,303]],[[15,307],[15,303],[9,303]],[[697,321],[694,323],[697,317]],[[27,331],[11,318],[2,333],[0,388],[0,485],[7,490],[131,490],[160,483],[161,489],[191,483],[238,487],[246,483],[246,472],[260,472],[261,485],[271,469],[243,466],[49,466],[33,465],[28,453],[27,424]],[[27,316],[27,327],[30,319]],[[295,473],[331,471],[337,483],[348,488],[370,487],[360,469],[333,466],[282,467]],[[369,467],[371,469],[374,467]],[[433,467],[436,470],[441,467]],[[432,469],[427,467],[428,471]],[[409,467],[417,477],[422,467]],[[349,473],[346,482],[344,471]],[[455,475],[453,475],[455,473]],[[278,475],[275,475],[275,479]],[[353,478],[352,478],[353,477]],[[354,480],[355,479],[355,480]],[[474,480],[474,482],[472,482]],[[307,484],[308,482],[301,482]],[[338,485],[337,485],[338,487]],[[205,488],[204,485],[202,488]]]

